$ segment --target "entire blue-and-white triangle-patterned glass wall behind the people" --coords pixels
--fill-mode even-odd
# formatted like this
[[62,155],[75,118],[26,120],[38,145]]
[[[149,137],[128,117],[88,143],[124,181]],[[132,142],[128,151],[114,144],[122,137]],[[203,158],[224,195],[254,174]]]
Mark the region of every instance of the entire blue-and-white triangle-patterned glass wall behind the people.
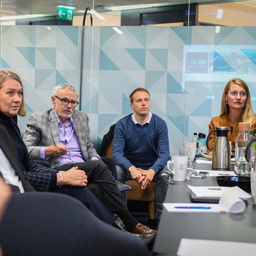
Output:
[[[220,113],[226,82],[248,83],[256,107],[255,27],[2,26],[1,68],[17,72],[26,88],[27,116],[51,107],[51,90],[68,82],[80,92],[95,147],[111,124],[131,113],[129,94],[151,93],[152,113],[167,122],[171,154],[193,132],[208,133]],[[82,47],[83,45],[83,47]]]

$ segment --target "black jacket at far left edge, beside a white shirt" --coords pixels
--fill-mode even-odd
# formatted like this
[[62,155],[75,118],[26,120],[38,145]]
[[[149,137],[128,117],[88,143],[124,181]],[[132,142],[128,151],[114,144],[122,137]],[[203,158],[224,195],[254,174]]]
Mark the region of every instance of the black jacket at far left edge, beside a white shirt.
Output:
[[[24,175],[21,171],[20,162],[18,161],[18,152],[15,147],[15,144],[13,143],[13,140],[11,139],[9,133],[5,129],[4,126],[2,126],[0,122],[0,148],[4,152],[5,156],[10,161],[11,165],[13,166],[15,173],[21,180],[21,183],[23,185],[23,188],[26,192],[28,191],[35,191],[33,186],[24,178]],[[0,174],[1,175],[1,174]],[[12,186],[13,192],[17,192],[17,187]]]

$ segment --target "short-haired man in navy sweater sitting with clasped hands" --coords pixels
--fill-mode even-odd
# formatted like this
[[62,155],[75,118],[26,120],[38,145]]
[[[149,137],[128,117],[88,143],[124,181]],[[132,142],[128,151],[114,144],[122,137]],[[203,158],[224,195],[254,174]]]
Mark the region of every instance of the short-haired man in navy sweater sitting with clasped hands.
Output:
[[117,164],[117,180],[123,183],[136,180],[141,189],[152,180],[157,183],[158,223],[168,188],[167,176],[161,176],[170,160],[167,124],[150,112],[150,95],[144,88],[137,88],[130,94],[130,106],[134,113],[115,124],[113,158]]

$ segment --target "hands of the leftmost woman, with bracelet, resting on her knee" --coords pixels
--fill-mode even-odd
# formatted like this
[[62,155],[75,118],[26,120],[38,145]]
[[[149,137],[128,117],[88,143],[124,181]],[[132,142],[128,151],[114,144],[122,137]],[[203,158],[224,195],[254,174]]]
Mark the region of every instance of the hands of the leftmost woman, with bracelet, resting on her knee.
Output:
[[79,170],[78,167],[73,167],[70,170],[64,171],[61,176],[63,180],[61,182],[60,175],[57,173],[57,185],[70,185],[70,186],[86,186],[88,183],[85,171]]

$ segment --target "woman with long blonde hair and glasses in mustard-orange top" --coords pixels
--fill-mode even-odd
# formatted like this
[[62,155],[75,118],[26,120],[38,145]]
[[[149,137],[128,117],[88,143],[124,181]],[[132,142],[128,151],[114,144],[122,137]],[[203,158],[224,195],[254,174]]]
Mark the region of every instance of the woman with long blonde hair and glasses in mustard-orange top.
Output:
[[[251,130],[256,130],[256,115],[252,110],[251,96],[248,85],[238,78],[227,82],[221,98],[221,113],[213,117],[209,124],[209,132],[218,126],[229,127],[229,141],[232,151],[235,152],[235,141],[238,136],[238,124],[246,122],[251,124]],[[210,154],[213,152],[216,133],[210,136],[208,146]]]

